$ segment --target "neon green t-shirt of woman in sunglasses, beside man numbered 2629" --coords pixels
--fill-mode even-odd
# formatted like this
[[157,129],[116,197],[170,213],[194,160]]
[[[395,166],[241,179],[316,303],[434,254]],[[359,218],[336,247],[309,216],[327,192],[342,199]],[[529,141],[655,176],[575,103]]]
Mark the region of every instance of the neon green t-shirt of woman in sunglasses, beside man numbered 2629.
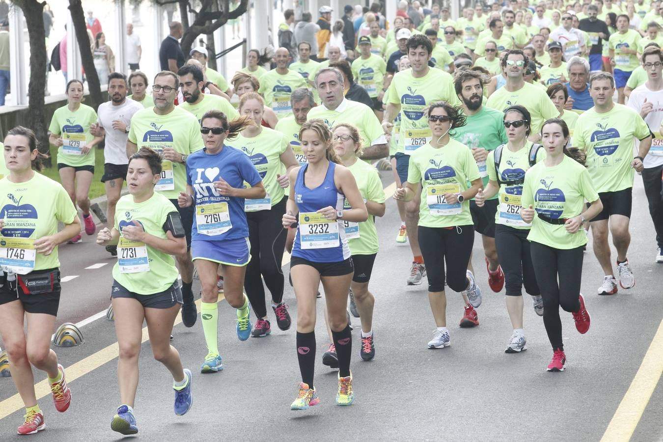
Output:
[[430,142],[424,144],[410,156],[408,183],[423,186],[419,207],[419,225],[424,227],[452,227],[472,225],[469,199],[462,203],[449,204],[445,193],[467,190],[467,182],[479,178],[479,168],[472,152],[450,139],[441,148]]

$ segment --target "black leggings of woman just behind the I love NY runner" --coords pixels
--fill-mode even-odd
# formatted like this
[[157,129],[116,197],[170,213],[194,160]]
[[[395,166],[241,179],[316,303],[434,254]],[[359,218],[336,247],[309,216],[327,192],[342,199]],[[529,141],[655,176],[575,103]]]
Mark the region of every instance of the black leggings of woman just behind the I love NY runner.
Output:
[[279,304],[283,300],[281,261],[288,235],[281,225],[281,220],[286,213],[287,201],[286,196],[273,205],[271,210],[247,212],[251,260],[247,264],[244,290],[255,315],[259,318],[267,316],[265,287],[261,276],[265,278],[265,284],[272,294],[272,302]]

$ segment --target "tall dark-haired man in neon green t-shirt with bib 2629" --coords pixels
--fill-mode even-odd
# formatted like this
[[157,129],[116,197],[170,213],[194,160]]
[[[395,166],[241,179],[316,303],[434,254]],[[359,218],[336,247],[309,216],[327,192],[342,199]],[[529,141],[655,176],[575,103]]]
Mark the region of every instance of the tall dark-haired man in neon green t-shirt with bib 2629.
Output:
[[[396,157],[396,172],[403,185],[408,180],[410,155],[416,152],[419,146],[431,140],[430,127],[424,118],[424,109],[435,101],[447,101],[452,105],[459,104],[453,89],[452,76],[428,66],[432,52],[430,40],[425,35],[414,35],[408,39],[406,50],[412,68],[394,75],[389,86],[389,104],[387,104],[382,121],[385,134],[391,137],[393,121],[400,112],[400,137],[398,137],[398,148],[394,156]],[[426,266],[419,248],[417,233],[420,199],[421,191],[416,189],[413,197],[408,200],[410,202],[405,205],[405,223],[413,256],[410,275],[407,279],[408,286],[421,284],[422,277],[426,275]]]

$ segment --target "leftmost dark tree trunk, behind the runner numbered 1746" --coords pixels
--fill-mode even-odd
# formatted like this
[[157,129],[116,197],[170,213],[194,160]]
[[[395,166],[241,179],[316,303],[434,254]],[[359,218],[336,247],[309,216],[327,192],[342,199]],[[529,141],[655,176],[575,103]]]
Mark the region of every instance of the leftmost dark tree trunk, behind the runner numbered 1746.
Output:
[[[29,125],[40,142],[40,152],[48,154],[48,123],[44,115],[44,85],[46,84],[46,33],[42,12],[44,5],[37,0],[15,0],[23,9],[30,39]],[[50,167],[50,157],[44,166]]]

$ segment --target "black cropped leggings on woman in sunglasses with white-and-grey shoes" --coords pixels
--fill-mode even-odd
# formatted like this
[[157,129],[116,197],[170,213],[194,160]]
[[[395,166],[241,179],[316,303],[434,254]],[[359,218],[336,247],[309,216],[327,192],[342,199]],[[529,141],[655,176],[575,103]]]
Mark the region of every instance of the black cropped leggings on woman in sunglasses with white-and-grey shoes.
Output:
[[426,264],[428,292],[444,292],[445,276],[454,292],[465,290],[469,284],[467,264],[474,245],[474,228],[471,225],[451,229],[419,226],[418,239]]

